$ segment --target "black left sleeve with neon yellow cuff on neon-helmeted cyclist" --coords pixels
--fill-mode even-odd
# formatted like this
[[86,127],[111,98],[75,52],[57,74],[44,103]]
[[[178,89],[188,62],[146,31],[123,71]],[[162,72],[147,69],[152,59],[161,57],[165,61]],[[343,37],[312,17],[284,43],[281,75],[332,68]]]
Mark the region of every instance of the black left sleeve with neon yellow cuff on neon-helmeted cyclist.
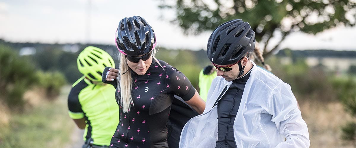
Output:
[[68,95],[68,113],[72,119],[82,119],[84,118],[84,113],[82,110],[82,105],[79,102],[78,95],[83,89],[84,80],[75,85]]

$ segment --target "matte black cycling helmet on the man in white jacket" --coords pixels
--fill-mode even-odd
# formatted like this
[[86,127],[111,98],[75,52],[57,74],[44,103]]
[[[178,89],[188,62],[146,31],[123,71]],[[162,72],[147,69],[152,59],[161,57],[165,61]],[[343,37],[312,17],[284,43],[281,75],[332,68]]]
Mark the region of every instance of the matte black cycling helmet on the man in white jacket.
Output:
[[235,64],[255,49],[255,32],[250,24],[235,19],[221,24],[211,33],[208,57],[218,65]]

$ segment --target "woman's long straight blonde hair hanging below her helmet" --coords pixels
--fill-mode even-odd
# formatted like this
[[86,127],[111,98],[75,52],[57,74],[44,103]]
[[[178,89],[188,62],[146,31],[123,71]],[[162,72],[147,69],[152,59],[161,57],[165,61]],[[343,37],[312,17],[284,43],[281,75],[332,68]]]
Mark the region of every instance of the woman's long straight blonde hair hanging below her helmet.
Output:
[[[163,66],[159,63],[159,61],[155,57],[156,52],[157,52],[156,49],[153,48],[152,58],[157,62],[159,66],[163,68]],[[121,100],[122,110],[124,111],[124,113],[127,113],[131,108],[131,105],[134,105],[132,100],[132,95],[131,95],[133,79],[131,77],[131,72],[128,71],[130,70],[130,67],[129,65],[127,65],[126,57],[124,54],[120,53],[119,61],[120,61],[119,68],[118,68],[119,73],[117,73],[118,75],[117,77],[119,77],[119,79],[117,79],[117,86],[120,86],[119,93],[121,94],[119,100]],[[122,75],[122,73],[125,74]]]

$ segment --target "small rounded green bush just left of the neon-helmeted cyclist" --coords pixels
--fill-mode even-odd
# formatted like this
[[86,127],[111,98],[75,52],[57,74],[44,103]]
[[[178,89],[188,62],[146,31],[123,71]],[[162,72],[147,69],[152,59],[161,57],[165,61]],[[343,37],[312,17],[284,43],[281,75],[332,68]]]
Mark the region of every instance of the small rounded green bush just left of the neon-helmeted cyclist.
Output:
[[53,99],[59,94],[61,88],[66,84],[66,78],[61,72],[37,71],[38,85],[45,88],[47,98]]

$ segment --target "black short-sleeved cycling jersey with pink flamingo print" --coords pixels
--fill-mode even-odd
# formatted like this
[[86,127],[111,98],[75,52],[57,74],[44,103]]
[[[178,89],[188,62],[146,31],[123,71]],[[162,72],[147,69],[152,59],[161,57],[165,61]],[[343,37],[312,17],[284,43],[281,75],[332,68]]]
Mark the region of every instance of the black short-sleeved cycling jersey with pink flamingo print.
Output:
[[[122,110],[120,100],[120,122],[111,139],[111,147],[164,148],[167,143],[167,121],[173,96],[188,101],[195,94],[195,88],[187,77],[164,61],[155,61],[145,75],[131,70],[133,80],[131,106],[128,113]],[[119,87],[116,98],[120,98]]]

